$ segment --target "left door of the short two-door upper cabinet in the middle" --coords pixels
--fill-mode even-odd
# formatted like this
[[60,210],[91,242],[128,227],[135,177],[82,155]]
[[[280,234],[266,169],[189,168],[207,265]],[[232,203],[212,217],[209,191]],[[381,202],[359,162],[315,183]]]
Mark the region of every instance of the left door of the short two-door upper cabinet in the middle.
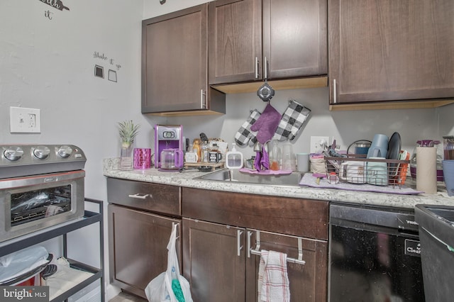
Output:
[[209,62],[210,84],[259,79],[262,0],[210,2]]

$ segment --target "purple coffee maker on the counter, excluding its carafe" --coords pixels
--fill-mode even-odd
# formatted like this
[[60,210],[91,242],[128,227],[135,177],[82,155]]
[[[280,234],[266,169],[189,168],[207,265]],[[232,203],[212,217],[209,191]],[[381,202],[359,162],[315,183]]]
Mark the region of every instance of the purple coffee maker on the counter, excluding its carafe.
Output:
[[[161,152],[164,149],[183,151],[182,125],[155,125],[155,167],[161,167]],[[183,159],[181,159],[183,160]]]

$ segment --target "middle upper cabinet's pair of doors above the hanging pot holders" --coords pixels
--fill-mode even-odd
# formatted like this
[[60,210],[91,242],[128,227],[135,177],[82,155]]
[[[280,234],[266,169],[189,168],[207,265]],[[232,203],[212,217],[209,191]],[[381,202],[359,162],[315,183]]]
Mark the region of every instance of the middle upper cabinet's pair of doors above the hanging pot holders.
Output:
[[326,75],[326,0],[209,3],[209,84]]

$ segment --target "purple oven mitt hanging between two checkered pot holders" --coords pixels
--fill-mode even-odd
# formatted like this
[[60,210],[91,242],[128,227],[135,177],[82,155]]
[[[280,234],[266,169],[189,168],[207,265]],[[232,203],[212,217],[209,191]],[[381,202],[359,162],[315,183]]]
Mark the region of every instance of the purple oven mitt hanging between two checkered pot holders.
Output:
[[270,104],[267,104],[257,121],[250,126],[250,130],[258,131],[256,138],[263,145],[275,135],[281,118],[281,113]]

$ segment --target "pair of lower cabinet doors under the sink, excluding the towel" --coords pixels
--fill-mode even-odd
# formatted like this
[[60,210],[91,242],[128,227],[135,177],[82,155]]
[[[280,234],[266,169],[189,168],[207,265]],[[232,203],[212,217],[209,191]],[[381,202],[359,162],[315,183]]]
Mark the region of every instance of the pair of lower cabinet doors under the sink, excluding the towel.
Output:
[[182,224],[184,276],[194,302],[258,301],[260,255],[254,250],[285,252],[292,258],[302,253],[305,264],[287,264],[292,301],[326,301],[325,240],[189,218],[183,218]]

